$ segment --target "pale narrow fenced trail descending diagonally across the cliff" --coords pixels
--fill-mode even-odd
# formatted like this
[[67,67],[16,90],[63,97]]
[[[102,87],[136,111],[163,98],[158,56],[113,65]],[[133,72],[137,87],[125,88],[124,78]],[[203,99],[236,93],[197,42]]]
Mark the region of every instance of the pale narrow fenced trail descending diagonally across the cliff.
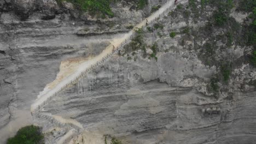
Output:
[[[185,3],[188,2],[188,0],[179,1],[179,3]],[[117,52],[117,49],[120,49],[121,46],[123,46],[125,43],[127,43],[133,34],[135,34],[136,28],[142,28],[143,26],[146,26],[146,23],[148,23],[156,20],[158,17],[160,17],[162,14],[166,15],[168,11],[174,8],[174,1],[168,1],[165,5],[163,5],[158,11],[144,19],[142,22],[138,23],[130,32],[123,35],[121,38],[116,38],[110,41],[110,45],[104,49],[100,55],[95,56],[91,59],[88,59],[88,61],[82,62],[79,64],[79,67],[77,70],[73,71],[72,74],[68,75],[67,77],[63,78],[62,80],[58,81],[58,83],[55,83],[53,87],[45,87],[43,92],[40,92],[40,94],[37,96],[38,98],[34,101],[34,103],[31,105],[31,114],[38,115],[40,113],[40,109],[51,100],[51,98],[56,95],[56,93],[62,91],[62,89],[65,89],[66,87],[72,85],[73,82],[78,81],[80,77],[86,75],[88,71],[95,68],[98,63],[103,63],[106,58],[109,58],[113,55],[113,51]],[[169,10],[170,9],[170,10]],[[43,113],[41,113],[42,115]],[[59,123],[69,123],[76,125],[80,129],[83,129],[83,125],[79,122],[71,119],[65,119],[60,116],[53,116],[50,113],[44,114],[47,117],[51,117],[55,119]],[[50,118],[50,119],[51,119]],[[73,131],[72,131],[73,134]],[[68,135],[69,137],[69,135]]]

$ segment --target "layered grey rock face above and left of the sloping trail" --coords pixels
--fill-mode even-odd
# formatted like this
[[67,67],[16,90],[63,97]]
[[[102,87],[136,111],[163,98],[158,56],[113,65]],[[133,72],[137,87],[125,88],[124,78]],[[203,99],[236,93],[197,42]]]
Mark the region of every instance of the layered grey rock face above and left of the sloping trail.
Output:
[[127,4],[113,7],[117,16],[99,20],[79,15],[70,3],[60,8],[55,1],[1,1],[0,143],[32,123],[30,105],[54,81],[62,61],[72,65],[98,55],[146,15]]

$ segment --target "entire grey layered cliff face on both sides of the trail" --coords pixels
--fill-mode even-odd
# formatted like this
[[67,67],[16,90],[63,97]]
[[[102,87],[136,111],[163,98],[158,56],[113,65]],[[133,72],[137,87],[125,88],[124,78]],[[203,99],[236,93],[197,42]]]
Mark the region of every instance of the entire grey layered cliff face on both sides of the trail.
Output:
[[112,5],[116,16],[105,20],[79,15],[67,2],[62,8],[52,0],[1,3],[0,143],[33,122],[43,127],[46,143],[69,137],[66,143],[98,144],[105,136],[123,143],[254,143],[256,73],[247,59],[252,47],[239,41],[246,19],[214,26],[209,17],[216,5],[203,9],[199,2],[197,10],[179,5],[144,27],[141,48],[131,48],[133,39],[40,109],[62,124],[30,115],[36,95],[66,63],[98,55],[165,2],[136,11],[132,1],[121,1]]

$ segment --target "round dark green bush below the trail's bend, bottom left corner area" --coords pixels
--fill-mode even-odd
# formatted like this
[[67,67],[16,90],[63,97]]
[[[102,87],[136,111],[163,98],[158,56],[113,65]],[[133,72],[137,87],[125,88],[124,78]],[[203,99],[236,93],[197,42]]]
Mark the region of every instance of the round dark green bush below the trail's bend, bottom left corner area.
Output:
[[30,125],[19,129],[14,137],[7,140],[7,144],[40,144],[44,143],[43,139],[40,128]]

